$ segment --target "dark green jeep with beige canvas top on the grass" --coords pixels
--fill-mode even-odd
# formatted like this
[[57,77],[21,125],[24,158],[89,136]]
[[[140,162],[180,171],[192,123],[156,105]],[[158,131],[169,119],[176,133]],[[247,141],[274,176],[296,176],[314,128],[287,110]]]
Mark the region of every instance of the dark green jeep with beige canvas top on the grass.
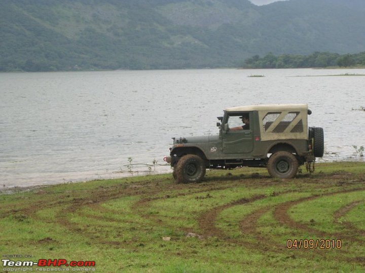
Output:
[[198,182],[206,169],[267,167],[273,177],[292,178],[306,164],[311,172],[324,152],[323,128],[308,127],[311,113],[307,104],[227,108],[217,135],[172,138],[164,160],[177,183]]

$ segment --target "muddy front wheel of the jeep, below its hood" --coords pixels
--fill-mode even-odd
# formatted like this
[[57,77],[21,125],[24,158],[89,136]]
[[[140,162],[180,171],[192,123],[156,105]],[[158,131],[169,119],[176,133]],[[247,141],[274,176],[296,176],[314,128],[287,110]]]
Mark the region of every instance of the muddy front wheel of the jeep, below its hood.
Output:
[[177,183],[199,182],[205,175],[205,163],[197,155],[180,158],[174,170]]

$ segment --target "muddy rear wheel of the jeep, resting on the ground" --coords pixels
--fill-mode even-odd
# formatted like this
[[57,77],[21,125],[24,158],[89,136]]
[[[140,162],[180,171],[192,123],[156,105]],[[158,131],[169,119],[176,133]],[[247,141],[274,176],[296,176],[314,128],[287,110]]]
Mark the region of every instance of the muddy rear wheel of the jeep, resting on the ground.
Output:
[[293,154],[280,151],[270,156],[267,168],[272,177],[292,178],[297,174],[298,166]]

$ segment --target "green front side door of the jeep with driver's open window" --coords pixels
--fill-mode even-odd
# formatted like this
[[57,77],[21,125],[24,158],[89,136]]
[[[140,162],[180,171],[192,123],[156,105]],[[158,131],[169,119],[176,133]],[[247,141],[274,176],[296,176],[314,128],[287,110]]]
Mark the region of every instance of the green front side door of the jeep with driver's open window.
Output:
[[245,154],[252,152],[253,132],[250,120],[252,120],[250,112],[227,113],[222,130],[223,153]]

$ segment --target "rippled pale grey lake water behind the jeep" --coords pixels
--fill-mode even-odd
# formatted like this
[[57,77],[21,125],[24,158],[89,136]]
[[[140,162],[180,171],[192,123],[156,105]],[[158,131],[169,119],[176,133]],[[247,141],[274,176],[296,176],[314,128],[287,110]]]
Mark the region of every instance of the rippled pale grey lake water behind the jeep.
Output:
[[365,69],[1,73],[0,187],[130,175],[129,157],[169,171],[171,137],[216,134],[225,108],[250,104],[307,103],[322,160],[351,160],[365,146],[365,76],[329,76],[345,73]]

